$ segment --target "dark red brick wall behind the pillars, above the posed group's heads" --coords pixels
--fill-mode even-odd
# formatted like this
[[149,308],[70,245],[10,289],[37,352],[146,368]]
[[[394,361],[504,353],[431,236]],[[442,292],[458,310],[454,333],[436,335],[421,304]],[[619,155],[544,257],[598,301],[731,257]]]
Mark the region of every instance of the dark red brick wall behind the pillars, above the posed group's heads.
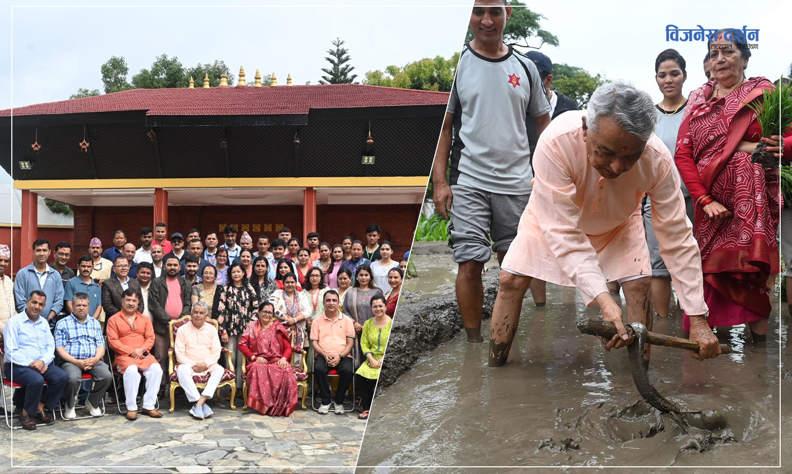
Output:
[[[331,245],[340,243],[345,235],[366,241],[366,227],[377,223],[383,228],[382,240],[393,242],[394,259],[401,258],[412,245],[415,223],[421,206],[418,204],[394,204],[377,206],[317,207],[317,232],[322,241]],[[74,207],[74,253],[88,248],[91,237],[99,237],[102,245],[112,245],[116,229],[124,229],[133,244],[139,243],[139,231],[151,226],[154,219],[153,207]],[[262,233],[270,238],[277,237],[276,229],[286,226],[295,237],[303,235],[302,206],[171,206],[168,208],[168,234],[186,233],[195,227],[205,234],[210,229],[219,230],[221,225],[234,224],[242,233],[248,226],[253,241]],[[260,230],[253,230],[254,226]],[[267,230],[271,229],[271,230]],[[238,238],[238,237],[237,237]],[[82,255],[82,253],[79,253]]]

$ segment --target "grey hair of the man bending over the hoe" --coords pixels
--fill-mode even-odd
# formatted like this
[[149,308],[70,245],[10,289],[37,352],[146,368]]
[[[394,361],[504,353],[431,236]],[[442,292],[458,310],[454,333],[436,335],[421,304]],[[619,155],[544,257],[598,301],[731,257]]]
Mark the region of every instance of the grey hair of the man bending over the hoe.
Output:
[[601,116],[611,117],[624,131],[644,141],[649,140],[657,125],[657,111],[649,93],[622,81],[600,85],[592,93],[586,108],[586,126],[596,131]]

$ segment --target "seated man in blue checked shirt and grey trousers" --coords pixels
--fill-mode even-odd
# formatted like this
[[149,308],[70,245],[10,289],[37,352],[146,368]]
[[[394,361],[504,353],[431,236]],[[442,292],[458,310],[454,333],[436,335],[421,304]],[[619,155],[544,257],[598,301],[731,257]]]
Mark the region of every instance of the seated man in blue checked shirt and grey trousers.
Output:
[[88,314],[88,294],[74,294],[71,314],[59,320],[55,327],[58,366],[69,376],[64,393],[66,413],[63,417],[66,419],[77,417],[74,413],[74,397],[77,396],[83,373],[93,375],[93,390],[86,400],[86,408],[93,416],[101,416],[99,405],[112,381],[108,365],[101,360],[105,355],[105,338],[101,335],[101,324],[93,317],[88,317]]

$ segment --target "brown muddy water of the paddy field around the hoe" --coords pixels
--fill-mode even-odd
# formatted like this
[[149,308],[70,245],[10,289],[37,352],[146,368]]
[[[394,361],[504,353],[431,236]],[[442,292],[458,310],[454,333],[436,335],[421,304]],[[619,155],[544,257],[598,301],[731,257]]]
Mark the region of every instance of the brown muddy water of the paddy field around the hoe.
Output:
[[[412,286],[416,298],[453,283],[452,271],[439,270],[450,262],[444,252],[413,252],[419,278],[406,290]],[[655,320],[654,331],[683,336],[674,309]],[[512,363],[500,368],[486,366],[487,343],[458,336],[441,344],[375,400],[358,465],[379,466],[371,472],[404,465],[778,465],[786,308],[782,328],[771,318],[767,343],[754,345],[734,328],[733,353],[714,361],[653,347],[649,380],[684,408],[725,413],[729,426],[715,431],[680,426],[649,408],[626,351],[606,353],[577,331],[574,317],[585,311],[573,289],[548,285],[540,309],[528,296]],[[489,321],[482,331],[489,334]]]

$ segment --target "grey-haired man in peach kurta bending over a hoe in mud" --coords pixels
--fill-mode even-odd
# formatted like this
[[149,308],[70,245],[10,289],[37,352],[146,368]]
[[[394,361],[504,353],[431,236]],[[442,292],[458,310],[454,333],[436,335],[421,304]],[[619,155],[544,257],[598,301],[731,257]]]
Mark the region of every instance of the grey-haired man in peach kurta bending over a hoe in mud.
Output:
[[[603,319],[619,332],[603,341],[607,350],[632,342],[607,282],[621,283],[627,322],[639,321],[651,330],[652,271],[640,209],[645,193],[680,305],[695,315],[691,339],[699,341],[701,349],[693,355],[720,354],[718,339],[706,324],[699,247],[685,214],[673,158],[653,135],[655,114],[647,93],[611,83],[597,89],[586,112],[565,112],[539,137],[534,193],[499,277],[490,366],[501,366],[508,358],[522,299],[533,278],[577,286],[586,305],[596,302]],[[645,363],[648,355],[647,348]]]

